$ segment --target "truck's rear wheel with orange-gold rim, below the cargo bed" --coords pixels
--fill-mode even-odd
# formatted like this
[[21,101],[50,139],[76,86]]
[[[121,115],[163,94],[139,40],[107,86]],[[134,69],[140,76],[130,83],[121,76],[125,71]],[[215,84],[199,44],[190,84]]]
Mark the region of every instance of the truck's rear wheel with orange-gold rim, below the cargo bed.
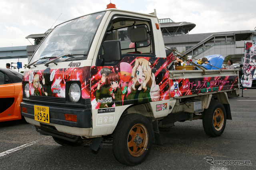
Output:
[[203,127],[209,136],[220,136],[226,126],[226,111],[222,103],[211,101],[203,113]]

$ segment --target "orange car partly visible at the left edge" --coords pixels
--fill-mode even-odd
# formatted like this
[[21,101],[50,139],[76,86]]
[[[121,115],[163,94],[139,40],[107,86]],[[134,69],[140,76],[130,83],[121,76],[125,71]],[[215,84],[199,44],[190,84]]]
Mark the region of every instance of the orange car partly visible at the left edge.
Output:
[[21,119],[22,74],[0,68],[0,122]]

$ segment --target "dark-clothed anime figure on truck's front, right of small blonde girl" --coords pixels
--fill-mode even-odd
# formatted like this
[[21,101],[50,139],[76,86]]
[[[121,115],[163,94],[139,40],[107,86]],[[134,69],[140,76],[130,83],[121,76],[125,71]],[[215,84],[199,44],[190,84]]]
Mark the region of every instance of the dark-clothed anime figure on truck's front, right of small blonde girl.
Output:
[[52,81],[50,81],[50,68],[47,68],[42,73],[41,94],[42,96],[52,96]]

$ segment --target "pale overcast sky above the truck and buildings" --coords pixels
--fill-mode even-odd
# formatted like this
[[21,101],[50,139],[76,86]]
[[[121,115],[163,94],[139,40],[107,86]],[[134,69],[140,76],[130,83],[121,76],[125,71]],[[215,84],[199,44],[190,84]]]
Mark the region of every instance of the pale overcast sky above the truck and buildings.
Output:
[[[110,0],[0,0],[0,47],[31,45],[33,39],[30,43],[26,36],[42,34],[67,20],[104,10],[109,3]],[[118,9],[142,13],[156,9],[159,19],[192,22],[196,27],[190,34],[256,27],[256,0],[111,0],[111,3]]]

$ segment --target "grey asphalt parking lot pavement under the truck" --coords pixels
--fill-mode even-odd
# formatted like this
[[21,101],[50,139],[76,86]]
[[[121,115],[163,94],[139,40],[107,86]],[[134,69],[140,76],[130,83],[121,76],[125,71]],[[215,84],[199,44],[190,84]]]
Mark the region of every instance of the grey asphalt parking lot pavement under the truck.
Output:
[[243,91],[243,97],[242,90],[238,93],[229,98],[232,120],[221,136],[207,136],[202,120],[177,122],[161,132],[164,144],[154,144],[137,166],[120,164],[111,143],[102,143],[95,153],[91,144],[61,146],[22,121],[0,123],[0,169],[255,170],[256,89]]

